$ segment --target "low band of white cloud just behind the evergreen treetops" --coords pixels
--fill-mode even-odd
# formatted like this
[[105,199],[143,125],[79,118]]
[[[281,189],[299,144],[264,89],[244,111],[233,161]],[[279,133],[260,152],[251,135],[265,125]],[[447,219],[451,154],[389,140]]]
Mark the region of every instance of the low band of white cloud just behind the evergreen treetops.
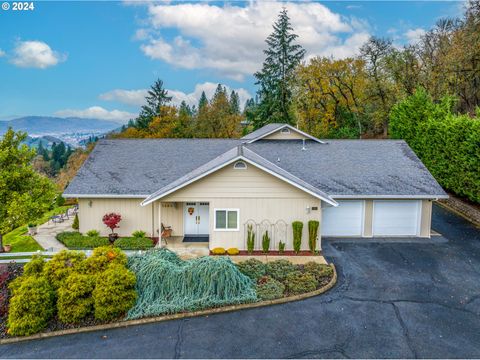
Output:
[[[205,82],[202,84],[195,85],[195,88],[190,93],[185,93],[180,90],[169,90],[168,94],[172,97],[172,102],[175,105],[180,105],[182,101],[185,101],[188,105],[197,105],[198,101],[200,100],[200,96],[202,95],[202,91],[205,91],[205,95],[207,98],[211,98],[215,93],[215,89],[217,88],[216,83],[212,82]],[[228,93],[232,91],[232,88],[229,86],[225,86],[227,88]],[[245,102],[252,97],[252,95],[245,90],[244,88],[236,88],[234,89],[238,96],[240,97],[240,104],[243,106]],[[134,106],[141,106],[145,104],[145,96],[147,95],[148,89],[138,89],[138,90],[123,90],[123,89],[115,89],[104,94],[101,94],[99,97],[102,100],[107,101],[118,101],[123,104],[127,105],[134,105]]]

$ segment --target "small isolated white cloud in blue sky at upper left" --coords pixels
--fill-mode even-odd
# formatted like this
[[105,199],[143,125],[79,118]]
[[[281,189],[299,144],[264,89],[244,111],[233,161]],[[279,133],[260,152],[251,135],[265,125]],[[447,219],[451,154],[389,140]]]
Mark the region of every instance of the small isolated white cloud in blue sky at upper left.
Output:
[[18,67],[45,69],[65,59],[66,55],[53,51],[43,41],[19,41],[11,62]]

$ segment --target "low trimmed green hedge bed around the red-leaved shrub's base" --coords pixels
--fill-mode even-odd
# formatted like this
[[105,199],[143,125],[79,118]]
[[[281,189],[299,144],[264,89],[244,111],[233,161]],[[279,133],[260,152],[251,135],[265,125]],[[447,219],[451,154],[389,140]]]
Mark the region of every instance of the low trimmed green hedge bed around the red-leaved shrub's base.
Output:
[[[60,233],[57,235],[57,240],[71,250],[94,249],[110,244],[107,237],[82,235],[77,231]],[[148,250],[155,246],[155,243],[147,237],[121,237],[115,241],[114,245],[122,250]]]

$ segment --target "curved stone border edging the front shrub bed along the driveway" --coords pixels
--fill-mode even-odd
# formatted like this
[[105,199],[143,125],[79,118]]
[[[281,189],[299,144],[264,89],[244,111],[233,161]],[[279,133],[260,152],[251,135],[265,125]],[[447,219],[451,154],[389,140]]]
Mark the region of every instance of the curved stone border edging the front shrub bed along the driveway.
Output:
[[143,319],[118,321],[118,322],[103,324],[103,325],[85,326],[85,327],[74,328],[74,329],[66,329],[66,330],[57,330],[57,331],[38,333],[38,334],[30,335],[30,336],[0,339],[0,345],[13,344],[13,343],[22,342],[22,341],[29,341],[29,340],[38,340],[38,339],[55,337],[55,336],[63,336],[63,335],[79,334],[79,333],[85,333],[85,332],[124,328],[124,327],[128,327],[128,326],[151,324],[151,323],[156,323],[156,322],[163,322],[163,321],[177,320],[177,319],[185,319],[185,318],[205,316],[205,315],[211,315],[211,314],[220,314],[220,313],[232,312],[232,311],[237,311],[237,310],[253,309],[253,308],[258,308],[258,307],[264,307],[264,306],[270,306],[270,305],[276,305],[276,304],[284,304],[284,303],[288,303],[288,302],[292,302],[292,301],[299,301],[299,300],[303,300],[303,299],[308,299],[310,297],[323,294],[323,293],[327,292],[328,290],[330,290],[333,286],[335,286],[335,284],[337,283],[337,269],[335,268],[335,265],[333,265],[333,264],[330,264],[330,266],[333,268],[333,276],[332,276],[332,279],[329,281],[329,283],[327,285],[325,285],[324,287],[320,288],[320,289],[317,289],[315,291],[311,291],[311,292],[308,292],[308,293],[304,293],[304,294],[283,297],[283,298],[275,299],[275,300],[265,300],[265,301],[255,302],[255,303],[229,305],[229,306],[223,306],[223,307],[213,308],[213,309],[191,311],[191,312],[177,313],[177,314],[163,315],[163,316],[156,316],[156,317],[149,317],[149,318],[143,318]]

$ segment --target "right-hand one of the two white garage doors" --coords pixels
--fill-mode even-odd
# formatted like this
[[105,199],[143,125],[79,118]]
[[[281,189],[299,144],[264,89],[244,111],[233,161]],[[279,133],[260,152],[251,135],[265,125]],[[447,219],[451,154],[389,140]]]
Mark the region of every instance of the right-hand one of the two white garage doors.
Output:
[[420,201],[373,202],[373,236],[415,236],[420,223]]

